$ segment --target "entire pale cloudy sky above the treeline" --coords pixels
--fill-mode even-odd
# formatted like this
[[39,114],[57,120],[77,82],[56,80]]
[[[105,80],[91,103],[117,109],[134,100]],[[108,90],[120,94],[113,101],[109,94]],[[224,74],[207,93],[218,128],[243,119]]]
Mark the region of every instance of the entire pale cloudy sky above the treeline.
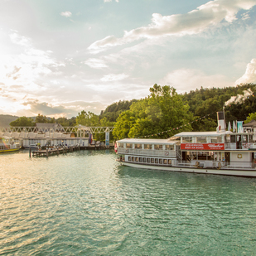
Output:
[[0,114],[99,114],[152,85],[256,82],[256,0],[0,0]]

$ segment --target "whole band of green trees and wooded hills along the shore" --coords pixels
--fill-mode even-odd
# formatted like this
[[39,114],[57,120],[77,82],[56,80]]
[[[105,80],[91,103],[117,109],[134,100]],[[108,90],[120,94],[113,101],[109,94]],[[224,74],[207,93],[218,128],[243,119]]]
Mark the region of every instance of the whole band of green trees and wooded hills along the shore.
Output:
[[[191,90],[177,94],[169,85],[153,85],[145,99],[118,101],[99,115],[85,110],[73,118],[20,117],[10,126],[60,123],[62,126],[111,126],[112,138],[169,138],[182,131],[215,131],[216,112],[225,110],[226,122],[248,123],[256,118],[256,85]],[[96,135],[96,134],[95,134]],[[104,140],[104,134],[96,139]]]

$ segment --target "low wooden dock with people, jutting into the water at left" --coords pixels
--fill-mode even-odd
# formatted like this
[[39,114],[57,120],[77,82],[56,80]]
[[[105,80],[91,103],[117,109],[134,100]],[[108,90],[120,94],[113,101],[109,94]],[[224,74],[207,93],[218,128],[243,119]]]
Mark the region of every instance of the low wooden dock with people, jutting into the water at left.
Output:
[[50,157],[53,155],[66,154],[67,152],[73,152],[76,150],[80,150],[80,146],[46,148],[46,149],[37,149],[34,151],[31,151],[31,148],[30,148],[29,157],[31,157],[31,154],[33,157]]

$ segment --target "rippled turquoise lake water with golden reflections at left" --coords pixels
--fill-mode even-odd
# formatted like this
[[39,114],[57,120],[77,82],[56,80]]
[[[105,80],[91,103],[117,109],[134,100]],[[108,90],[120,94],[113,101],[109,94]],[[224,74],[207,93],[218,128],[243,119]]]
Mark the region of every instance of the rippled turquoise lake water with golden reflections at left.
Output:
[[0,255],[255,255],[256,179],[0,155]]

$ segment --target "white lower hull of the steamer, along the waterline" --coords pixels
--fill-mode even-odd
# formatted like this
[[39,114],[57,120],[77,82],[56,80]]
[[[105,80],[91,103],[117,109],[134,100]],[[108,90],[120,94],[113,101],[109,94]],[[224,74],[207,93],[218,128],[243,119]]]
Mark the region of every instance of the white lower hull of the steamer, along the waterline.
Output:
[[196,168],[196,167],[162,167],[162,166],[152,166],[143,165],[133,162],[120,162],[124,166],[161,170],[161,171],[181,171],[181,172],[191,172],[191,173],[203,173],[203,174],[218,174],[218,175],[229,175],[229,176],[248,176],[256,177],[256,169],[241,170],[241,169],[211,169],[211,168]]

